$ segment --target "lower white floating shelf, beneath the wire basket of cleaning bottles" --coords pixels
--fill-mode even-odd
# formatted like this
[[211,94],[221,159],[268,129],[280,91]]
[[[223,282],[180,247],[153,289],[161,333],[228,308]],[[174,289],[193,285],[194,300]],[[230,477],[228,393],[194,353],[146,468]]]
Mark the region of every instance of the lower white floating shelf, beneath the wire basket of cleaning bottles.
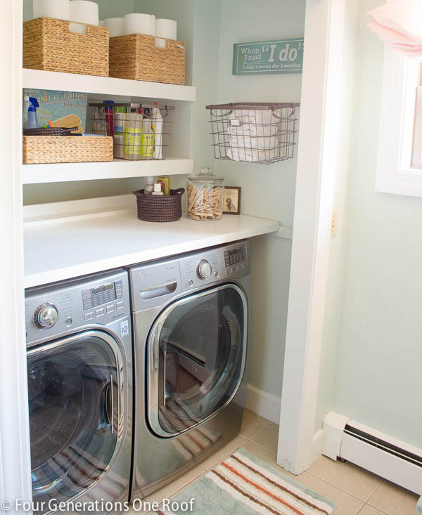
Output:
[[23,184],[94,181],[98,179],[184,175],[193,172],[193,159],[166,157],[146,161],[114,159],[109,162],[23,164]]

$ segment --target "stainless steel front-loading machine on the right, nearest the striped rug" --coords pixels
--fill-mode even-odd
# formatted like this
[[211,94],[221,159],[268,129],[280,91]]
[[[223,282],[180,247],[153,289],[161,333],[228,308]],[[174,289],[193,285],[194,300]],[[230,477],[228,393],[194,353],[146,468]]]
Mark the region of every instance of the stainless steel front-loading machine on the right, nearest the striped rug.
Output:
[[129,268],[134,327],[131,497],[157,490],[239,432],[248,241]]

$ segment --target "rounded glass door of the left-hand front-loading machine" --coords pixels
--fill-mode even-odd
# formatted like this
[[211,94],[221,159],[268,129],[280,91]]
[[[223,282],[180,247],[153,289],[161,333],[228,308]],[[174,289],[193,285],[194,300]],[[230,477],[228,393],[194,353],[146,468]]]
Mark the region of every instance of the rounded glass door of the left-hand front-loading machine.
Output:
[[124,436],[124,355],[90,330],[27,352],[32,497],[56,502],[93,486]]

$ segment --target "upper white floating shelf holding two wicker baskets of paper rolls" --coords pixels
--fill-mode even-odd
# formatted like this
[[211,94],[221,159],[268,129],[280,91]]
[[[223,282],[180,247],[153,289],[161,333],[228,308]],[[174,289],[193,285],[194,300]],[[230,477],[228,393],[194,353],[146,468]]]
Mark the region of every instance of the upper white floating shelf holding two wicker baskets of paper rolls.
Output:
[[45,72],[23,68],[23,87],[31,89],[52,89],[58,91],[79,91],[107,96],[126,96],[132,98],[155,98],[163,100],[196,100],[195,86],[179,86],[162,82],[134,81],[79,75],[74,73]]

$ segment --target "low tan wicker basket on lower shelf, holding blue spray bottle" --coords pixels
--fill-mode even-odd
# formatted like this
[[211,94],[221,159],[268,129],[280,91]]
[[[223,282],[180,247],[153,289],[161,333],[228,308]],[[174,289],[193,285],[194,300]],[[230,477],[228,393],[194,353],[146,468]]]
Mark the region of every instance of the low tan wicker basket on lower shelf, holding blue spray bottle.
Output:
[[23,136],[24,164],[113,161],[113,138]]

